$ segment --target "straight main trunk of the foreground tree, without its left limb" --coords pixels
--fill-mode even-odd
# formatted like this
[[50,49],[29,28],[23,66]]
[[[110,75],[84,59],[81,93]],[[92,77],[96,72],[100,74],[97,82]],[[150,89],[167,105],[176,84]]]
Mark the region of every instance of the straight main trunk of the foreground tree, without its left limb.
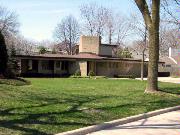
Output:
[[148,83],[145,92],[158,90],[160,0],[152,0],[152,23],[149,31]]

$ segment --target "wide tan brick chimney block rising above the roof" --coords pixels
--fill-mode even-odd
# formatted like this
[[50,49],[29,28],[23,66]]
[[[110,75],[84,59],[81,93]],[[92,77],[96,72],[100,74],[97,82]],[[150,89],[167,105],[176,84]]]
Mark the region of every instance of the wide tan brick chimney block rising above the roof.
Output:
[[99,55],[100,53],[100,36],[81,36],[79,53],[94,53]]

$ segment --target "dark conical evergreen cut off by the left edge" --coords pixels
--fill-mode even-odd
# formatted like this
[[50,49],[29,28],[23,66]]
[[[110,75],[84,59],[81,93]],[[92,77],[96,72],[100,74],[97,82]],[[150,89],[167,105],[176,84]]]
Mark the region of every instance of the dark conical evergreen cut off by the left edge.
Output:
[[0,32],[0,75],[5,76],[8,62],[8,53],[3,34]]

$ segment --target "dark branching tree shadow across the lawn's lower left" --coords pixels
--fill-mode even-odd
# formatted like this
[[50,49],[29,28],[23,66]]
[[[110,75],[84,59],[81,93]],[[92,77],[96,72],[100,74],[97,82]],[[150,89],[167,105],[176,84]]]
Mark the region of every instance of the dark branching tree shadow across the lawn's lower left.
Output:
[[[90,119],[88,115],[73,115],[74,113],[82,113],[83,110],[79,110],[85,103],[93,102],[97,99],[104,99],[109,98],[108,96],[80,96],[80,95],[68,95],[69,98],[63,98],[63,100],[58,100],[56,98],[48,98],[48,97],[40,97],[36,96],[36,100],[39,102],[46,102],[45,104],[39,105],[31,105],[27,107],[14,107],[8,109],[0,109],[0,117],[13,117],[17,116],[17,118],[13,118],[11,120],[0,120],[0,127],[11,129],[14,131],[20,131],[22,133],[28,135],[50,135],[53,133],[46,133],[40,131],[40,129],[24,127],[24,125],[51,125],[51,126],[89,126],[93,123],[88,122],[78,122],[78,121],[67,121],[67,122],[57,122],[54,118],[54,115],[66,115],[68,117],[79,117]],[[72,104],[73,103],[73,104]],[[58,105],[58,104],[69,104],[71,107],[64,111],[55,111],[49,110],[49,112],[39,112],[39,113],[29,113],[29,112],[21,112],[20,110],[27,110],[27,109],[38,109],[42,107],[48,107],[51,105]],[[20,111],[20,112],[19,112]],[[20,117],[20,118],[19,118]],[[46,120],[41,120],[41,118],[46,118]]]

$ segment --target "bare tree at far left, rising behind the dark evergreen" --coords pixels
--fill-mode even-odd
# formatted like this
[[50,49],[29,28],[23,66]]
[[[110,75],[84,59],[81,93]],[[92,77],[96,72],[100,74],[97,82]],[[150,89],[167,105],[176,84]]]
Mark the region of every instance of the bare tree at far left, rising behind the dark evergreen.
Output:
[[8,50],[16,50],[16,54],[31,54],[33,52],[33,41],[18,35],[20,23],[18,15],[0,6],[0,33],[5,37]]

